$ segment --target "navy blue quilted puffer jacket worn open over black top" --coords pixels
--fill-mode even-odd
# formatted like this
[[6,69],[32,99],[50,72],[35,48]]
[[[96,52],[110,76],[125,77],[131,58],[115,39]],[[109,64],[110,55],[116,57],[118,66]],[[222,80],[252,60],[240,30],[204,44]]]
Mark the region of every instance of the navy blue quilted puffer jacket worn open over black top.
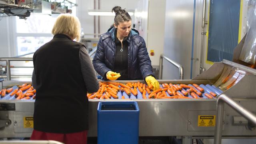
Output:
[[[115,45],[115,28],[100,35],[97,51],[93,59],[93,65],[102,77],[106,80],[106,73],[113,70],[116,45]],[[146,43],[139,36],[135,29],[130,31],[128,41],[128,76],[129,80],[145,79],[146,76],[154,76],[151,60],[148,56]]]

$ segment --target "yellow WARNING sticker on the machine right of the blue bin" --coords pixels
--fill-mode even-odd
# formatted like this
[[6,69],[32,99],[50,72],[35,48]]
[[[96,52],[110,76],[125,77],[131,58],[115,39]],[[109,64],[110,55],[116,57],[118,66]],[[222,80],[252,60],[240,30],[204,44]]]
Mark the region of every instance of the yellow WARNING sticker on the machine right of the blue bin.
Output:
[[215,126],[215,115],[199,115],[198,126]]

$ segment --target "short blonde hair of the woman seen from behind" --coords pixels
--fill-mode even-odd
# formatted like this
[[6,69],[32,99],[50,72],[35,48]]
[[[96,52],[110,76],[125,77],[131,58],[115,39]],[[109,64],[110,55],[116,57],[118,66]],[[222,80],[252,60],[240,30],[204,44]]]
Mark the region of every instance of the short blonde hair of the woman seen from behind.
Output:
[[80,41],[81,24],[76,16],[71,14],[60,14],[52,28],[52,34],[66,34]]

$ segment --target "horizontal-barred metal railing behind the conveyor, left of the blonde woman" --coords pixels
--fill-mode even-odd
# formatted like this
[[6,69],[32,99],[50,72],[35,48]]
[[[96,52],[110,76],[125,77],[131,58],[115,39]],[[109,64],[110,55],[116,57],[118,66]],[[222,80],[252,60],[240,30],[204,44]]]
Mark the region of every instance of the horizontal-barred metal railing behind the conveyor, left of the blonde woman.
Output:
[[[91,58],[93,60],[93,58]],[[0,76],[0,78],[7,78],[7,80],[11,80],[11,67],[10,67],[10,61],[33,61],[33,58],[0,58],[0,61],[6,62],[6,76]],[[33,68],[31,66],[28,67],[13,67],[13,68]],[[14,78],[27,78],[28,75],[17,75],[12,76]],[[31,77],[31,76],[30,76]]]

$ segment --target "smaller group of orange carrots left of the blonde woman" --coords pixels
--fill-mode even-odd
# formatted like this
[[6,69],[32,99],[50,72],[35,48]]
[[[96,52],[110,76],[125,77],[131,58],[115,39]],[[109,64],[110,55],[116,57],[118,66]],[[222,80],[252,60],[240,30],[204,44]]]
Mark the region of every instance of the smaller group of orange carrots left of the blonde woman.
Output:
[[36,99],[36,89],[34,89],[31,84],[22,84],[16,89],[13,89],[12,87],[8,89],[5,88],[0,91],[1,98],[8,94],[10,94],[10,96],[14,96],[16,100],[28,100],[31,97]]

